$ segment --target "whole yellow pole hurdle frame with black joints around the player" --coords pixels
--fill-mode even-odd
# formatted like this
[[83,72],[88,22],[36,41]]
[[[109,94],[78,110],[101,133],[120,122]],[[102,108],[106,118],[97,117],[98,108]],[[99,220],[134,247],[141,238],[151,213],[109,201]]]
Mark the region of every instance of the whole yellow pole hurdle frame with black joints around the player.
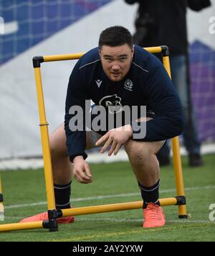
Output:
[[[158,46],[158,47],[146,47],[145,50],[151,53],[161,52],[163,57],[163,65],[166,68],[168,75],[171,77],[171,69],[169,63],[169,53],[167,46]],[[39,106],[39,126],[41,132],[42,140],[42,152],[44,160],[44,175],[47,191],[47,212],[49,219],[45,221],[35,221],[27,223],[16,223],[16,224],[1,224],[0,232],[12,231],[12,230],[22,230],[22,229],[49,229],[49,231],[57,231],[57,218],[63,216],[77,216],[83,214],[98,214],[109,211],[123,211],[131,209],[141,209],[143,206],[143,201],[135,201],[128,203],[119,203],[119,204],[105,204],[99,206],[87,206],[73,209],[62,209],[57,210],[55,207],[54,200],[54,184],[52,177],[52,160],[49,148],[49,130],[48,123],[45,114],[44,107],[44,96],[42,90],[42,76],[40,65],[44,62],[50,61],[60,61],[60,60],[77,60],[84,52],[67,54],[67,55],[48,55],[48,56],[37,56],[33,58],[34,65],[34,75],[37,87],[37,101]],[[180,219],[187,218],[186,214],[186,197],[183,188],[183,173],[181,167],[181,154],[179,147],[179,138],[174,137],[172,139],[172,148],[173,148],[173,163],[174,163],[174,172],[176,179],[176,196],[173,198],[159,198],[161,206],[178,206],[178,217]]]

